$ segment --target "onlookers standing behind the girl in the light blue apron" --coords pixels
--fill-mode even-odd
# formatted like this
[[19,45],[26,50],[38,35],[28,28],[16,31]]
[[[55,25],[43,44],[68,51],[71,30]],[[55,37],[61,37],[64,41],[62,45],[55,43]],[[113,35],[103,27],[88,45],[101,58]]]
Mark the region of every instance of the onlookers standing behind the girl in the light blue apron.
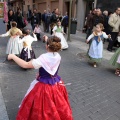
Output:
[[[104,32],[111,34],[112,41],[109,40],[107,50],[112,52],[114,47],[119,47],[120,43],[117,41],[117,36],[120,32],[120,8],[118,7],[114,13],[105,10],[103,13],[100,9],[93,9],[86,19],[86,33],[88,36],[92,33],[94,27],[98,23],[104,25]],[[105,39],[104,39],[105,40]]]

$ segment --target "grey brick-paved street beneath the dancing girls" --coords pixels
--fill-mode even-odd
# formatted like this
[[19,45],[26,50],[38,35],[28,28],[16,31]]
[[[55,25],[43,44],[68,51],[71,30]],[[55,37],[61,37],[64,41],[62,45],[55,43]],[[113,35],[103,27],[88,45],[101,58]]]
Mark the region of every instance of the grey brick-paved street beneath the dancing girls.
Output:
[[[5,26],[0,20],[0,34]],[[14,62],[5,62],[8,38],[0,38],[0,120],[15,120],[18,106],[37,70],[23,70]],[[61,51],[59,74],[65,81],[74,120],[120,120],[120,77],[109,65],[113,53],[106,51],[102,63],[93,68],[86,57],[88,45],[85,35],[77,32],[71,35],[69,49]],[[41,41],[33,43],[38,57],[46,52]],[[8,116],[7,116],[8,115]],[[8,118],[7,118],[8,117]]]

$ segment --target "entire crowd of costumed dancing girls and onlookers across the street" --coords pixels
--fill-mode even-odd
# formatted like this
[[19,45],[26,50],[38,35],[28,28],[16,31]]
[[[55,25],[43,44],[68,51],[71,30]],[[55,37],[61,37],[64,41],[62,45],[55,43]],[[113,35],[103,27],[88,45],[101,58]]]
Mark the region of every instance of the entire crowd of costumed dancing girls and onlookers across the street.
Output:
[[[117,37],[120,39],[120,8],[115,13],[103,13],[104,15],[100,9],[94,9],[87,17],[87,54],[96,68],[103,57],[103,41],[108,39],[108,51],[112,51],[114,46],[119,47],[110,63],[116,67],[115,74],[120,76],[120,46],[117,42]],[[32,30],[25,27],[27,22],[20,9],[16,13],[9,10],[8,19],[7,33],[0,35],[10,36],[6,49],[7,59],[15,61],[24,69],[39,69],[36,79],[22,100],[16,120],[73,120],[68,94],[62,78],[58,75],[61,61],[58,52],[68,48],[64,37],[68,24],[67,13],[62,17],[58,9],[53,13],[44,10],[42,15],[36,9],[33,13],[29,10],[27,20],[31,23]],[[44,32],[50,32],[51,37],[43,36],[47,53],[36,58],[31,44],[41,40],[41,21]]]

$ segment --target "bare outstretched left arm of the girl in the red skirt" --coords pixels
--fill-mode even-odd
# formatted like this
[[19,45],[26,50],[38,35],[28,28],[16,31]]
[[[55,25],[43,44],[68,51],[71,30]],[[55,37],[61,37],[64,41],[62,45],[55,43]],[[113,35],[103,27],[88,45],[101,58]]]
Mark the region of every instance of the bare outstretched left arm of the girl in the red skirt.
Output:
[[32,64],[32,61],[26,62],[26,61],[20,59],[19,57],[17,57],[16,55],[14,55],[14,54],[9,54],[8,55],[8,60],[14,60],[22,68],[34,68],[34,66]]

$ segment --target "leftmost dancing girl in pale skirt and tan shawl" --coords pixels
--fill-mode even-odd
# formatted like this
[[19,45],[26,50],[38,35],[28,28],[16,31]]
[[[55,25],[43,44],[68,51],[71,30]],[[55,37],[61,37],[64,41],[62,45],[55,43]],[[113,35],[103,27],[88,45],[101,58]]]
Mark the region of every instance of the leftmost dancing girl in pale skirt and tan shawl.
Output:
[[23,48],[22,44],[18,44],[19,36],[22,35],[22,31],[17,28],[17,23],[13,21],[11,23],[12,28],[5,34],[0,35],[0,37],[10,36],[7,43],[6,54],[19,55]]

